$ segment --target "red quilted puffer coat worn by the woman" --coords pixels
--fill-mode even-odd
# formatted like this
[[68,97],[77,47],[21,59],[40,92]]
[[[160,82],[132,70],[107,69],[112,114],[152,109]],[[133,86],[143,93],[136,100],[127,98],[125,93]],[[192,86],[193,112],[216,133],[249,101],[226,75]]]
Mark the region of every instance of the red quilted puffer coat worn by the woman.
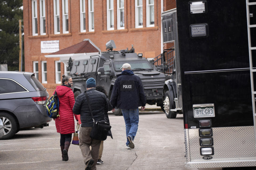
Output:
[[[74,133],[75,122],[74,113],[72,111],[75,103],[74,93],[71,88],[67,86],[57,86],[55,91],[57,91],[59,98],[59,117],[55,119],[57,132],[61,134]],[[75,119],[78,120],[76,114]]]

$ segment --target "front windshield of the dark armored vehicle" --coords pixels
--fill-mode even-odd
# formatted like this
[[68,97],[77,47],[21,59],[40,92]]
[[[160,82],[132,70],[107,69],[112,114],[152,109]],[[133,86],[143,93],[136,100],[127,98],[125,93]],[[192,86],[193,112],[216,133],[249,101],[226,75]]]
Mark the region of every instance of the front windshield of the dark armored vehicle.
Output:
[[115,70],[120,71],[120,68],[124,63],[129,63],[131,65],[131,70],[143,70],[143,69],[153,69],[147,60],[135,60],[135,61],[115,61]]

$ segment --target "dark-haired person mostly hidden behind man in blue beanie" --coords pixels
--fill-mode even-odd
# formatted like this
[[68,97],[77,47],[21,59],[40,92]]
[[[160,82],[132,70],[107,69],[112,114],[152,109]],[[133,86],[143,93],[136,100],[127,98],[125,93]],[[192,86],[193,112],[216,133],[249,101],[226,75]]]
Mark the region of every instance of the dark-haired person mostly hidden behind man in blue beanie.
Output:
[[[108,96],[107,96],[107,92],[106,92],[106,90],[104,89],[103,86],[96,86],[95,89],[96,89],[97,91],[100,91],[100,92],[104,93],[104,94],[106,95],[106,97],[108,97]],[[112,105],[109,103],[109,110],[111,110],[111,109],[113,109],[113,108],[112,108]],[[109,122],[109,116],[108,116],[107,112],[105,112],[105,121],[106,121],[106,122]],[[110,124],[110,122],[109,122],[109,124]],[[107,135],[110,136],[110,137],[113,139],[111,130],[109,130],[109,132],[108,132]],[[103,152],[103,141],[101,141],[101,145],[100,145],[100,147],[99,147],[99,157],[98,157],[97,164],[103,164],[103,163],[104,163],[104,162],[101,160],[102,152]]]

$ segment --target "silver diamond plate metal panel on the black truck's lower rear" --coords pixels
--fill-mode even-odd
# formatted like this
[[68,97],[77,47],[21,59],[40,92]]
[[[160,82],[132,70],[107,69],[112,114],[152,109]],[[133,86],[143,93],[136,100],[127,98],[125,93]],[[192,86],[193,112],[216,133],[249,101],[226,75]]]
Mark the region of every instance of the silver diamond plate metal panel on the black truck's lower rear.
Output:
[[[187,166],[190,168],[243,167],[256,165],[256,149],[253,126],[225,127],[213,129],[213,159],[204,160],[200,155],[198,129],[188,129],[185,143]],[[184,131],[185,133],[185,131]],[[186,151],[187,152],[187,151]],[[196,166],[195,166],[196,165]],[[200,166],[199,166],[200,165]],[[209,167],[210,166],[210,167]]]

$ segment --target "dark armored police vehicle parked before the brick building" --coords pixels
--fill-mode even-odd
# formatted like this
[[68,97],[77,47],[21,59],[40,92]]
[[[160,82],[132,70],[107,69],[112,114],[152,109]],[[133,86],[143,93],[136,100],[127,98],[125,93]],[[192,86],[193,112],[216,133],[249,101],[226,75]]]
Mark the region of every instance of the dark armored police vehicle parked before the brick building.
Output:
[[[165,74],[157,71],[142,54],[135,53],[134,48],[113,51],[115,44],[110,40],[106,47],[108,51],[99,52],[97,55],[79,56],[77,60],[70,60],[70,75],[73,79],[73,92],[77,97],[81,92],[86,91],[86,80],[93,77],[97,85],[102,85],[107,91],[108,98],[116,80],[116,75],[121,74],[120,69],[124,63],[131,65],[131,70],[141,78],[144,86],[147,104],[157,103],[163,109],[162,87],[165,83]],[[127,102],[129,102],[127,98]],[[116,108],[115,115],[122,115],[121,109]]]

